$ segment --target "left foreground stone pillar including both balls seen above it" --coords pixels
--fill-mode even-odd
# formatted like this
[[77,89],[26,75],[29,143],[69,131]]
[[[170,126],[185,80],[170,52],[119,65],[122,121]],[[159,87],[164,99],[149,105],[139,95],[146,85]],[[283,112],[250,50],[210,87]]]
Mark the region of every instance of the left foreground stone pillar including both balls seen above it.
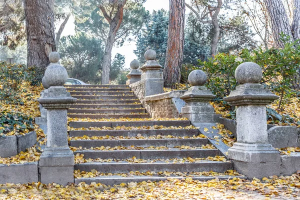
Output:
[[67,142],[67,108],[76,98],[63,87],[67,72],[58,64],[59,54],[51,52],[49,60],[51,64],[44,74],[49,88],[37,99],[47,109],[47,144],[39,159],[40,182],[65,185],[74,182],[74,155]]

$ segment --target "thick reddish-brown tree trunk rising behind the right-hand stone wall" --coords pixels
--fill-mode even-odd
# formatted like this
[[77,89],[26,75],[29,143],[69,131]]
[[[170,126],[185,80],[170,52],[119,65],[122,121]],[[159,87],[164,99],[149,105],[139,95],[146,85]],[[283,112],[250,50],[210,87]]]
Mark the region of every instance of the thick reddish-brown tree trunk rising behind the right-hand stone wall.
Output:
[[176,87],[180,81],[180,71],[184,45],[184,0],[169,0],[169,24],[166,57],[163,70],[164,86]]

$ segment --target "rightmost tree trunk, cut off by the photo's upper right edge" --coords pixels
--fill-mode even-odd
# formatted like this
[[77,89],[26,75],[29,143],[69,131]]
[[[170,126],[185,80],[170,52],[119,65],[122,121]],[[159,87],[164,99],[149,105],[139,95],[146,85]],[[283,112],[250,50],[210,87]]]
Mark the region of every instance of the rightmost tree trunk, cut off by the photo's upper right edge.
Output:
[[300,39],[300,0],[293,0],[291,10],[291,33],[294,39]]

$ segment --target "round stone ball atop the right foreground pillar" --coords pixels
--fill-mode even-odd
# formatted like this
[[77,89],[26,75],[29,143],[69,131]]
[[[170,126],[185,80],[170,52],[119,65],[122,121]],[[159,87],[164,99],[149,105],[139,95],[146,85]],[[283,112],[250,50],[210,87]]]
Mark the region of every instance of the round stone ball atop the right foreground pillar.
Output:
[[262,70],[254,62],[244,62],[236,67],[234,76],[240,84],[259,83],[262,77]]

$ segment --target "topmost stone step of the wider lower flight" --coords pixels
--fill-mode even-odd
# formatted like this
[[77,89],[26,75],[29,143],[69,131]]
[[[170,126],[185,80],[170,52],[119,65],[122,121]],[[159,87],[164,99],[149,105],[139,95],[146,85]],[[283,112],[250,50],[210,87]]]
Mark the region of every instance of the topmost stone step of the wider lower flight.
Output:
[[181,126],[185,127],[190,125],[189,120],[159,120],[159,121],[70,121],[69,126],[74,128],[81,127],[116,127],[116,126],[153,126],[153,125],[163,125],[165,127],[169,126]]

